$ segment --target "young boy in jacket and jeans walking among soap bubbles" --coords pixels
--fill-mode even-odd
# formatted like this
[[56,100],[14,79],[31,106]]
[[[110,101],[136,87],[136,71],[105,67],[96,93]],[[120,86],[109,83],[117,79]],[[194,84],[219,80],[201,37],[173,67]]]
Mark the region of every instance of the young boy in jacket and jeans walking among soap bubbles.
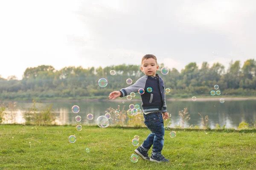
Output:
[[[119,91],[113,91],[109,94],[109,99],[115,99],[116,97],[123,97],[131,94],[131,92],[138,92],[140,88],[143,88],[145,93],[140,95],[142,99],[142,108],[144,116],[144,124],[152,132],[148,135],[147,139],[140,147],[134,150],[140,157],[145,160],[154,162],[169,162],[168,159],[161,154],[163,149],[163,136],[164,127],[163,119],[169,118],[169,113],[166,110],[166,99],[163,79],[156,74],[159,65],[157,65],[157,58],[152,54],[145,55],[141,60],[141,71],[145,76],[137,80],[133,85],[122,88]],[[147,88],[152,88],[151,92],[147,91]],[[148,157],[148,150],[153,145],[152,155]]]

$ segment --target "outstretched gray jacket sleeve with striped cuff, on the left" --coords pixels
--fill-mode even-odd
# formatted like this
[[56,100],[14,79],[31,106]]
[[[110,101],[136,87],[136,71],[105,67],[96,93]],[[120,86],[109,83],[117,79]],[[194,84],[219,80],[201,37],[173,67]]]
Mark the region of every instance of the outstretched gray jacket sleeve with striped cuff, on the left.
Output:
[[133,85],[130,85],[127,88],[122,88],[121,90],[119,90],[121,91],[120,97],[127,96],[131,94],[131,92],[137,93],[140,88],[144,89],[146,85],[146,80],[147,80],[147,77],[143,76],[140,79],[138,79]]

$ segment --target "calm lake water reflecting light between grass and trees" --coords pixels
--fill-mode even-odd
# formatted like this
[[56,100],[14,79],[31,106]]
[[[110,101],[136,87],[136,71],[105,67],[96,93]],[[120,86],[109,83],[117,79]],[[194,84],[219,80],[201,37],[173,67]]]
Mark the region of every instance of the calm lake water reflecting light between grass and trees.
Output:
[[[122,102],[125,102],[124,104]],[[218,100],[215,101],[167,101],[167,111],[171,113],[171,125],[170,127],[175,127],[180,125],[179,111],[183,108],[188,108],[190,115],[190,120],[185,123],[184,127],[189,127],[190,125],[198,125],[202,127],[201,113],[203,117],[208,116],[209,122],[208,126],[210,128],[215,128],[215,124],[218,123],[221,127],[225,125],[225,128],[235,128],[239,126],[241,122],[250,123],[253,125],[256,121],[256,100],[225,100],[224,103],[220,103]],[[75,117],[77,115],[81,116],[82,120],[79,122],[81,125],[96,125],[97,117],[105,115],[105,111],[109,107],[117,108],[118,105],[122,107],[125,105],[125,110],[128,110],[130,104],[139,104],[140,101],[129,101],[129,100],[119,100],[119,101],[64,101],[64,102],[43,102],[38,104],[41,106],[53,105],[53,109],[57,115],[56,123],[58,125],[64,124],[77,124]],[[24,123],[23,112],[27,108],[32,106],[32,102],[17,102],[15,113],[12,115],[13,119],[9,114],[9,119],[4,123]],[[73,105],[78,105],[80,108],[79,113],[73,113],[71,108]],[[8,111],[7,111],[8,112]],[[9,113],[9,112],[8,112]],[[88,120],[87,114],[92,113],[93,119]]]

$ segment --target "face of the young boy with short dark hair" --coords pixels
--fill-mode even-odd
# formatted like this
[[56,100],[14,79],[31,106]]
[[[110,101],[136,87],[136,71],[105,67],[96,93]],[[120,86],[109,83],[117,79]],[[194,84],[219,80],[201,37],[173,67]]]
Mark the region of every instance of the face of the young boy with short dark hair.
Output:
[[142,61],[140,67],[141,71],[147,76],[156,76],[156,72],[159,68],[155,59],[149,58]]

